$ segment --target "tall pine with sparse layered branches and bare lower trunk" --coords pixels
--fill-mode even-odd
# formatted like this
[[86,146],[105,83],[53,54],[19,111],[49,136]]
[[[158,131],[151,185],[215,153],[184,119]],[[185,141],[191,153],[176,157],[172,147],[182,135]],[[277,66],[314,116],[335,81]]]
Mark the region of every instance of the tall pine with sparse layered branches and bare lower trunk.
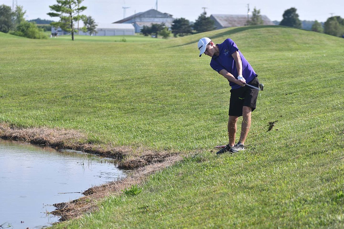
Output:
[[85,6],[80,6],[84,0],[56,0],[58,4],[49,6],[52,11],[47,13],[50,17],[60,17],[60,21],[52,22],[51,25],[55,28],[60,27],[62,30],[72,33],[72,41],[74,41],[74,22],[86,18],[86,15],[80,12],[87,9]]

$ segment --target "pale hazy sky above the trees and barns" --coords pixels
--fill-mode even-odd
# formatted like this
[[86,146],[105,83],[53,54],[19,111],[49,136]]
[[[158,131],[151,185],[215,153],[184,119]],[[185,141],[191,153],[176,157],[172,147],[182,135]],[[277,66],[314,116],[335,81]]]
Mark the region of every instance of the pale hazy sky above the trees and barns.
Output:
[[[23,6],[26,11],[25,19],[36,18],[58,21],[46,13],[51,12],[49,6],[56,4],[56,0],[0,0],[0,5],[12,7],[12,3]],[[156,0],[84,0],[81,4],[87,10],[83,14],[91,16],[97,23],[112,23],[129,17],[134,13],[144,12],[155,8]],[[267,15],[271,20],[282,20],[285,10],[294,7],[297,9],[300,20],[325,22],[331,16],[344,18],[344,0],[246,0],[245,2],[228,0],[158,0],[158,11],[169,13],[173,18],[186,18],[195,21],[206,7],[207,16],[211,14],[247,14],[247,4],[250,12],[254,7],[260,14]]]

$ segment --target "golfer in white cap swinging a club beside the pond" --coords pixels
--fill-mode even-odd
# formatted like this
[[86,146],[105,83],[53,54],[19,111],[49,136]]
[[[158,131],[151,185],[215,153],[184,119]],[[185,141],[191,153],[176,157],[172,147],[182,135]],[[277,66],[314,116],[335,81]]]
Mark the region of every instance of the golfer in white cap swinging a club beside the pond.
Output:
[[[232,87],[228,111],[228,144],[216,154],[244,150],[245,140],[251,126],[251,112],[256,108],[258,96],[258,89],[249,87],[246,83],[258,87],[258,75],[231,39],[215,45],[211,39],[203,37],[198,41],[197,47],[200,57],[203,53],[212,57],[210,66],[223,75]],[[235,144],[236,123],[240,116],[243,116],[240,139]]]

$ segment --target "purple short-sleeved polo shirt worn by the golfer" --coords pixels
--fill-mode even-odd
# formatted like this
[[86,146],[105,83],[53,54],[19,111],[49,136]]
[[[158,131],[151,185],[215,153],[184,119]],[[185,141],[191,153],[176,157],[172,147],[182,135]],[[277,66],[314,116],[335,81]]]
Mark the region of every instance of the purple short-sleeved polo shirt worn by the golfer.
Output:
[[[216,72],[220,73],[222,69],[226,69],[230,74],[232,74],[237,79],[238,70],[236,68],[236,64],[234,58],[232,57],[232,54],[238,51],[240,54],[241,62],[243,63],[243,77],[245,78],[246,82],[248,83],[258,76],[251,67],[251,65],[246,61],[244,55],[239,51],[234,41],[228,38],[223,43],[217,44],[217,47],[219,48],[220,53],[218,56],[213,56],[210,62],[210,66]],[[240,85],[230,81],[229,86],[231,86],[232,89],[237,89],[241,87]]]

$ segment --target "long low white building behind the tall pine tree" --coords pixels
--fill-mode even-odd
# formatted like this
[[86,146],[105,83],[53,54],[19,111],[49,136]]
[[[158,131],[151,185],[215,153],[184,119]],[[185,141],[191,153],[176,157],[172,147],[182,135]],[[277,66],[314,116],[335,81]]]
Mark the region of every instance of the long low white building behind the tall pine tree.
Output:
[[[82,25],[83,26],[83,25]],[[80,27],[82,27],[80,26]],[[123,35],[135,35],[135,28],[132,24],[98,24],[96,28],[97,33],[92,34],[93,36],[123,36]],[[63,31],[60,27],[57,30],[52,27],[51,33],[53,36],[61,36],[65,34],[71,34]],[[77,32],[75,34],[78,34]],[[79,31],[79,35],[90,35],[88,32]]]

